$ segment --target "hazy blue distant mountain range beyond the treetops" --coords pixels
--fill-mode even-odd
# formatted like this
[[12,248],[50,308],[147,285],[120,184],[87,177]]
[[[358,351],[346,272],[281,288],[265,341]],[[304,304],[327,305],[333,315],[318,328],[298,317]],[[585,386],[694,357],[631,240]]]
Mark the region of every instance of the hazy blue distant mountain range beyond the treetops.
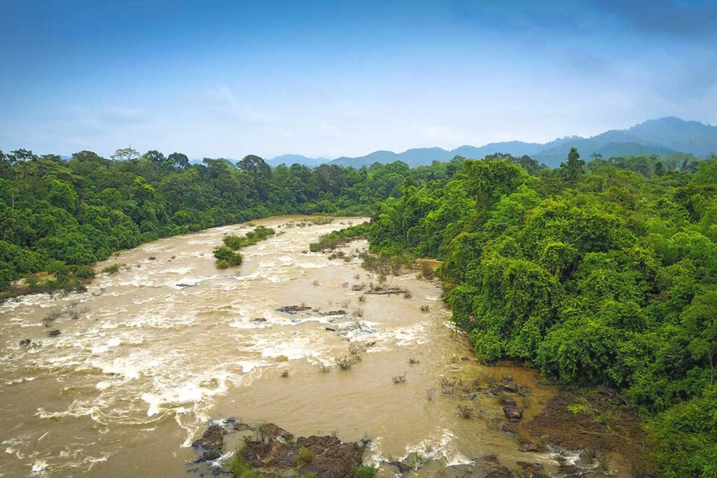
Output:
[[543,144],[505,141],[489,143],[480,147],[465,145],[453,150],[412,148],[403,153],[379,150],[357,158],[341,156],[333,161],[326,158],[307,158],[306,156],[288,154],[272,158],[267,163],[272,166],[282,163],[300,163],[312,168],[322,163],[329,163],[360,168],[361,166],[371,166],[373,163],[403,161],[414,167],[427,165],[432,161],[450,161],[456,155],[480,159],[493,153],[509,153],[513,156],[527,154],[541,163],[556,167],[565,160],[570,148],[573,147],[578,148],[581,157],[586,160],[594,153],[602,155],[603,158],[637,154],[669,155],[672,153],[708,156],[710,153],[717,153],[717,127],[704,125],[698,121],[668,117],[647,120],[627,130],[609,130],[591,138],[566,136]]

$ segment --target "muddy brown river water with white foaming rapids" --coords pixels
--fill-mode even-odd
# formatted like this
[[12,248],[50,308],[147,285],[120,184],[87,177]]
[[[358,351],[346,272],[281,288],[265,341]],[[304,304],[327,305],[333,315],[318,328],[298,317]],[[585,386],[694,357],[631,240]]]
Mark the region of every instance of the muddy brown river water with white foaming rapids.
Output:
[[[307,221],[280,216],[161,239],[98,264],[125,265],[98,275],[87,292],[0,305],[0,476],[182,476],[206,421],[229,416],[272,421],[295,435],[369,437],[368,462],[418,451],[445,464],[494,454],[508,467],[523,460],[555,469],[549,452],[521,453],[500,431],[495,397],[445,396],[439,382],[511,374],[532,389],[524,419],[554,388],[518,365],[476,362],[450,325],[438,282],[404,274],[390,280],[412,298],[364,295],[351,286],[378,279],[359,259],[308,252],[321,234],[364,219]],[[280,234],[243,249],[241,267],[215,269],[212,249],[222,236],[257,224]],[[276,310],[302,303],[318,312]],[[321,314],[338,309],[348,314]],[[63,310],[44,326],[43,317]],[[54,329],[61,335],[49,338]],[[24,339],[38,346],[21,347]],[[341,371],[333,360],[348,355],[348,340],[376,344]],[[405,383],[394,384],[404,373]],[[475,418],[460,418],[460,405]]]

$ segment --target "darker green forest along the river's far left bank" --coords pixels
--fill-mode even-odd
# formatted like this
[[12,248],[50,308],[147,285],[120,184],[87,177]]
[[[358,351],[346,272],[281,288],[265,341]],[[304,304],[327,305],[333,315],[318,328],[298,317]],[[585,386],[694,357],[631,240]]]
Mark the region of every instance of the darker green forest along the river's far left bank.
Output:
[[28,272],[67,272],[67,265],[72,272],[187,231],[272,214],[368,214],[376,201],[399,196],[405,177],[441,177],[446,169],[270,168],[257,156],[236,166],[209,158],[190,164],[181,153],[128,149],[113,159],[81,151],[69,161],[0,152],[0,289]]

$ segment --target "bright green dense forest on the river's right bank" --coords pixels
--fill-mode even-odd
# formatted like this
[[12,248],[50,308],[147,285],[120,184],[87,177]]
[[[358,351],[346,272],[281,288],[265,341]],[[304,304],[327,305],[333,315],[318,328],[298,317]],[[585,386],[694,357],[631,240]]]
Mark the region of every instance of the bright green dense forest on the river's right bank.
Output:
[[374,252],[443,261],[478,356],[619,388],[663,477],[717,476],[717,158],[599,159],[533,174],[500,158],[408,178],[369,227]]

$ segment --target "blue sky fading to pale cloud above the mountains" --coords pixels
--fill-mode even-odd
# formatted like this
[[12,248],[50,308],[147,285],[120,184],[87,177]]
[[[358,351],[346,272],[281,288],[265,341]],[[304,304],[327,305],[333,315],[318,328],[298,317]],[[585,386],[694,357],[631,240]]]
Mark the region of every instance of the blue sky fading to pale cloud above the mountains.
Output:
[[359,156],[717,124],[717,2],[0,0],[0,149]]

